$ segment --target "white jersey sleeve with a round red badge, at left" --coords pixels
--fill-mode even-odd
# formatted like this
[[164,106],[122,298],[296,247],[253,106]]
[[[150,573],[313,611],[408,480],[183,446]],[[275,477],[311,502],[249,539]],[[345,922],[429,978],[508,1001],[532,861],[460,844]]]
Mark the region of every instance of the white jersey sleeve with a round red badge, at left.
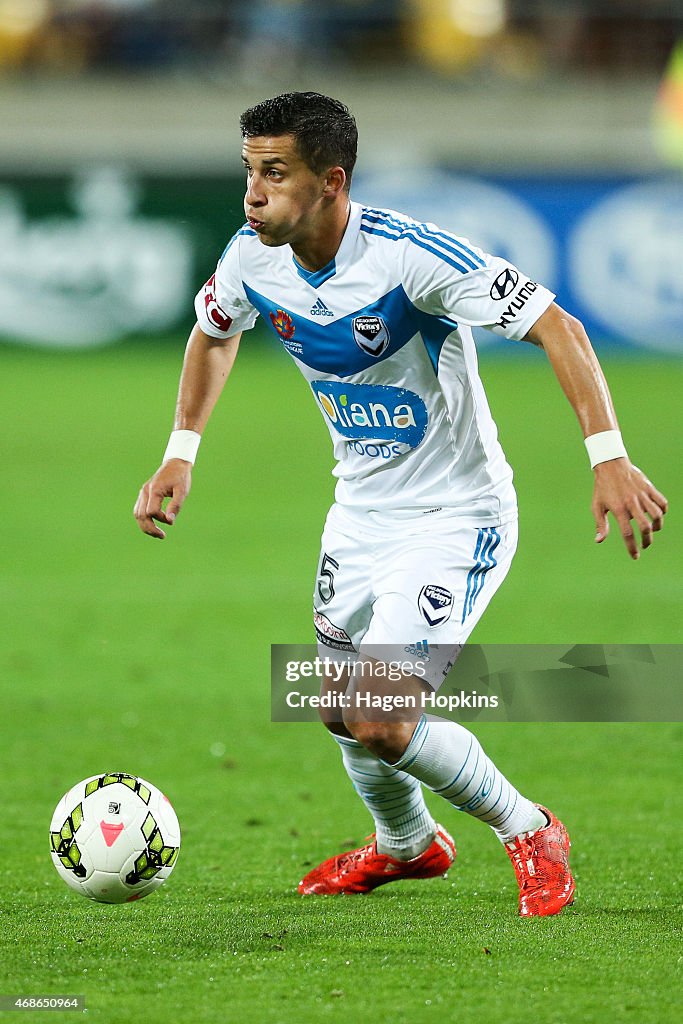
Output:
[[242,238],[241,231],[233,236],[215,272],[195,298],[197,322],[211,338],[230,338],[241,331],[249,331],[258,316],[242,283]]

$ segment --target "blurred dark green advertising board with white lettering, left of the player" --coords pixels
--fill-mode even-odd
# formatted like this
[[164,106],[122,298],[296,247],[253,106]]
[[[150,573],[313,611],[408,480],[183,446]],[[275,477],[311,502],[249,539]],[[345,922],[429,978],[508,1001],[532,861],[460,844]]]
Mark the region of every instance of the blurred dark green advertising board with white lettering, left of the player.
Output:
[[0,339],[84,348],[185,330],[243,190],[111,166],[0,178]]

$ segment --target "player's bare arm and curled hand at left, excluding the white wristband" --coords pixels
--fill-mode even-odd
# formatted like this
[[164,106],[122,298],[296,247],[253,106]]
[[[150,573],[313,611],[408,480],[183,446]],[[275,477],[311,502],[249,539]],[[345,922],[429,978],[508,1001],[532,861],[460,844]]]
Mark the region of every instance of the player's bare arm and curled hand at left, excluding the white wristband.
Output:
[[[180,375],[174,430],[202,433],[232,369],[240,337],[221,340],[205,334],[199,325],[194,328]],[[191,469],[184,459],[169,459],[142,484],[133,511],[143,534],[160,541],[166,538],[158,523],[173,525],[189,493]]]

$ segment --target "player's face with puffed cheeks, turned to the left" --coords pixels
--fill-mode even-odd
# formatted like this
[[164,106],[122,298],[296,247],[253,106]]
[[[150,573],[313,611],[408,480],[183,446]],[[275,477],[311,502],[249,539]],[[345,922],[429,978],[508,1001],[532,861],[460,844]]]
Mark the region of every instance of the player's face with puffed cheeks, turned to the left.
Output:
[[316,232],[326,175],[314,174],[291,135],[245,139],[245,213],[266,246],[296,245]]

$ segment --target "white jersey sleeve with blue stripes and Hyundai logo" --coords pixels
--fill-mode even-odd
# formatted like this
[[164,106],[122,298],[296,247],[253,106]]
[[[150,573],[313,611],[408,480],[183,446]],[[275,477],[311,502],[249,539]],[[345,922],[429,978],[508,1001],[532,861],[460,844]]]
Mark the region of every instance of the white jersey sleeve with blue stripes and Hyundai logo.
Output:
[[405,238],[403,287],[415,305],[520,341],[555,295],[467,239],[422,224]]

